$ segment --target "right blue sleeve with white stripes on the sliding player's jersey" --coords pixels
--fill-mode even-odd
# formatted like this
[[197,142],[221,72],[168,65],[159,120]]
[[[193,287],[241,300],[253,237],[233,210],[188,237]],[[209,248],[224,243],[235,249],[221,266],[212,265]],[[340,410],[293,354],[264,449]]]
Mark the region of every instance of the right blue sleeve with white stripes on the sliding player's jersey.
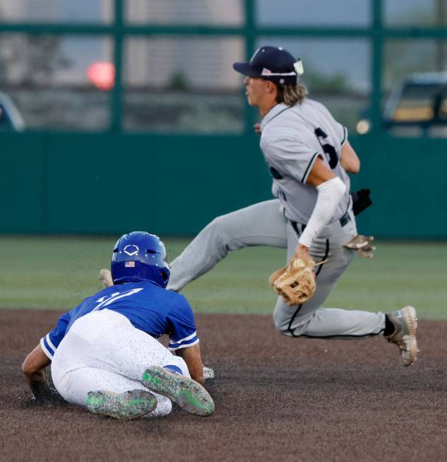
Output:
[[171,341],[168,348],[171,351],[192,347],[198,343],[196,321],[188,301],[180,295],[174,304],[169,313],[172,333],[169,335]]

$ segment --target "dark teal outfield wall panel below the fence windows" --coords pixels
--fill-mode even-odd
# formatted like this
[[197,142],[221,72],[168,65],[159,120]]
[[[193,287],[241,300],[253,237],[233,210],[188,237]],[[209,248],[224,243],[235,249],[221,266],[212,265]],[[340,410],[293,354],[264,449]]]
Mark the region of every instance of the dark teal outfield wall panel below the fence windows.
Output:
[[[374,206],[359,231],[447,238],[447,141],[352,137],[353,188]],[[0,233],[193,234],[214,216],[270,199],[254,134],[0,134]]]

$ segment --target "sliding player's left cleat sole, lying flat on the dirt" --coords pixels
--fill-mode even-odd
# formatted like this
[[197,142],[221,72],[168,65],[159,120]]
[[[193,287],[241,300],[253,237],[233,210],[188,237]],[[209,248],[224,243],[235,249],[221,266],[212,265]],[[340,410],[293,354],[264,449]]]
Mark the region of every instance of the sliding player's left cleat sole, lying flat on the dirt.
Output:
[[103,414],[115,419],[138,419],[157,407],[157,398],[145,390],[124,393],[89,391],[87,409],[93,414]]

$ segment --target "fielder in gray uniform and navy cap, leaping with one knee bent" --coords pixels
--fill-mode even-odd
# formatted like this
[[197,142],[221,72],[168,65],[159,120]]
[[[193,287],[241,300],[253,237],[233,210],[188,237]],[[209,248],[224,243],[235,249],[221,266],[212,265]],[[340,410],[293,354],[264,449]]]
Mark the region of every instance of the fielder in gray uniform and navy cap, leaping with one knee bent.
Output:
[[[286,50],[261,47],[250,62],[233,67],[246,76],[246,97],[261,114],[255,129],[277,199],[208,224],[172,262],[167,288],[181,290],[230,250],[287,248],[290,265],[270,277],[280,294],[273,313],[280,333],[325,339],[383,335],[399,347],[402,364],[409,366],[418,352],[412,306],[388,314],[321,308],[356,250],[367,258],[374,250],[372,238],[357,234],[347,173],[358,173],[360,162],[347,129],[321,103],[306,98],[299,83],[302,63]],[[304,280],[295,284],[299,272]],[[112,284],[107,273],[102,275],[105,284]]]

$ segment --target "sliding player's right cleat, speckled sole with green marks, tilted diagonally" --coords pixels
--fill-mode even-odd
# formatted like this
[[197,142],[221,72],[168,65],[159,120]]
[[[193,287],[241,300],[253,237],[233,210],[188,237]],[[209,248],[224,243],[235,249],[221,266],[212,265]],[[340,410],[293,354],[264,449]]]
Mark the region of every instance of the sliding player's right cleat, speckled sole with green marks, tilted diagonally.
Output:
[[214,412],[214,401],[208,391],[186,376],[153,366],[145,370],[141,381],[150,391],[167,396],[186,412],[202,416]]

